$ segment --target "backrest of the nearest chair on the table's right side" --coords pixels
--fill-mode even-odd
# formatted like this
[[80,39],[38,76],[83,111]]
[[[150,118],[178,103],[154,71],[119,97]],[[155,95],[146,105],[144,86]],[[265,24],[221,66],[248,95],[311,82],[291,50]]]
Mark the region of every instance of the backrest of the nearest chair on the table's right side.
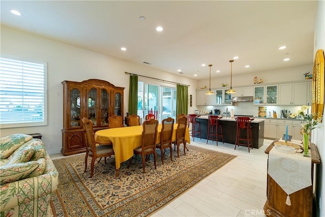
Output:
[[156,148],[157,133],[158,133],[158,120],[150,119],[145,120],[142,124],[142,150],[145,152],[146,149]]

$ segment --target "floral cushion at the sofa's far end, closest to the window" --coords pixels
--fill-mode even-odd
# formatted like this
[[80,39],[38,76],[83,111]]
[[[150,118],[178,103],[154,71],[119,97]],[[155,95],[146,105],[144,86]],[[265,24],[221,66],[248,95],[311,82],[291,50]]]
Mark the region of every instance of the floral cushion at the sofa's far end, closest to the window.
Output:
[[12,134],[0,139],[0,158],[8,158],[20,145],[32,140],[26,134]]

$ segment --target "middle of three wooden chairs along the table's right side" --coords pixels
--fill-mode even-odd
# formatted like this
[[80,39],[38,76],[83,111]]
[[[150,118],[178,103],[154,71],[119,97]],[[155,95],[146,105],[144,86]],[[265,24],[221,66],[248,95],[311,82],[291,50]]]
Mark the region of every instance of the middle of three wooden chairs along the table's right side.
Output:
[[161,164],[164,164],[164,154],[166,148],[170,149],[171,161],[173,161],[172,137],[174,130],[174,121],[174,118],[171,117],[168,117],[161,121],[160,143],[156,145],[156,148],[159,148],[161,152]]

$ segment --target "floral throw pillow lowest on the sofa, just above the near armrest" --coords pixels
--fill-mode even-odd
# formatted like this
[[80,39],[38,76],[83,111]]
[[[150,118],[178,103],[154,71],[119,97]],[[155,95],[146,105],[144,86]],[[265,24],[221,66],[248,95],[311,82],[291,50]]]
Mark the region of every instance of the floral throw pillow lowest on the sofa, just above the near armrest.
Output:
[[39,167],[37,161],[27,163],[7,164],[0,168],[0,184],[17,181],[27,177],[29,173]]

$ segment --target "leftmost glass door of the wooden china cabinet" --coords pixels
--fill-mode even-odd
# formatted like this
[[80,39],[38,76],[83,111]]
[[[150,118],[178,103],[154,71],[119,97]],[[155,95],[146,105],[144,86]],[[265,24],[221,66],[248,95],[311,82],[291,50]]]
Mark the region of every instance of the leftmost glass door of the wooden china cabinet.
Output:
[[70,127],[80,125],[80,91],[74,88],[70,91]]

